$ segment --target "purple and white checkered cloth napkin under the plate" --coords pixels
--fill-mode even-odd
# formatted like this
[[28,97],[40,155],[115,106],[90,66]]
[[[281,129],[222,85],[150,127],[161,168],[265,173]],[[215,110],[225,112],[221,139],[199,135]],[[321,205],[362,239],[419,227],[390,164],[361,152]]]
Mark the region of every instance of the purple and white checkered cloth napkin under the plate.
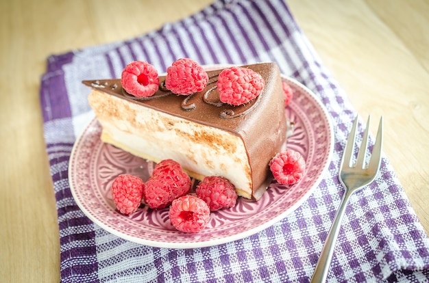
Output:
[[[315,92],[334,124],[334,152],[319,187],[288,217],[244,239],[174,250],[125,241],[78,208],[67,170],[77,134],[93,118],[82,80],[120,77],[134,60],[165,71],[190,57],[200,64],[277,62]],[[53,55],[40,103],[58,209],[62,282],[308,282],[343,187],[339,163],[356,116],[347,96],[282,0],[216,1],[182,21],[125,42]],[[373,139],[371,137],[371,143]],[[429,241],[389,161],[352,197],[328,273],[330,282],[428,282]]]

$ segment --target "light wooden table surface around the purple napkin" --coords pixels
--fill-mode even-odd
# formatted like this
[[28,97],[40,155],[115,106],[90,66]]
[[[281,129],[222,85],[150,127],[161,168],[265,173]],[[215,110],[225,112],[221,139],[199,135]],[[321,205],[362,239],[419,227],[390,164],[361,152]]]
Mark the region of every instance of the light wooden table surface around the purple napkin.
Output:
[[[0,1],[0,278],[58,282],[55,198],[40,76],[52,53],[138,36],[208,0]],[[429,1],[289,0],[361,116],[384,116],[384,152],[429,231]],[[373,133],[376,123],[371,126]]]

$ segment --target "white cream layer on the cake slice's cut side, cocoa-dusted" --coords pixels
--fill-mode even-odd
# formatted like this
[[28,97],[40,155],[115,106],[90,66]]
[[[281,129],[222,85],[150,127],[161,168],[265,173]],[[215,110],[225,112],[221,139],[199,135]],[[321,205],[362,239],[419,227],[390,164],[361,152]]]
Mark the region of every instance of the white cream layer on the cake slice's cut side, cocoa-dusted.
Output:
[[241,137],[97,90],[88,100],[103,127],[103,142],[155,162],[173,159],[199,180],[224,176],[238,196],[251,198],[251,170]]

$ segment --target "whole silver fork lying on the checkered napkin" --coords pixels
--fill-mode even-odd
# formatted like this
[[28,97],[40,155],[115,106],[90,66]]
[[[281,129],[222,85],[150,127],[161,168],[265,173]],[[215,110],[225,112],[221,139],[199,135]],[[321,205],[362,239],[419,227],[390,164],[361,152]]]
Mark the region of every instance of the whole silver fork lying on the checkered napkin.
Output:
[[326,242],[323,245],[319,261],[317,262],[315,273],[313,273],[311,282],[325,282],[328,276],[328,269],[334,254],[334,245],[338,238],[341,221],[345,213],[347,202],[353,193],[362,189],[366,185],[369,185],[377,176],[378,170],[380,169],[381,163],[381,148],[383,139],[383,118],[380,118],[380,124],[378,125],[378,132],[376,137],[376,143],[373,146],[371,152],[371,160],[368,165],[365,162],[367,156],[367,144],[368,144],[368,132],[369,122],[371,116],[368,117],[367,129],[363,134],[362,144],[360,145],[358,157],[356,163],[354,160],[354,143],[356,137],[356,128],[358,124],[358,118],[354,120],[352,131],[347,139],[345,150],[343,153],[343,159],[341,159],[339,180],[345,187],[345,192],[341,204],[336,212],[334,222],[330,228]]

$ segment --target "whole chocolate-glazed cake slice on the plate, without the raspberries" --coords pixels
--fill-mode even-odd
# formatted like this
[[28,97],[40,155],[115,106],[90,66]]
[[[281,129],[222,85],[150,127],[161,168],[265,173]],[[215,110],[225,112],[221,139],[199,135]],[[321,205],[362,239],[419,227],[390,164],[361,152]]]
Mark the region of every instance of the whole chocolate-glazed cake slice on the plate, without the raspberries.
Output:
[[265,86],[239,106],[219,100],[221,70],[208,71],[204,90],[189,96],[169,92],[165,77],[146,98],[127,94],[120,79],[84,84],[93,89],[88,100],[103,128],[103,142],[155,162],[174,159],[199,180],[224,176],[238,196],[259,200],[271,181],[269,161],[286,144],[284,96],[276,64],[243,67],[258,72]]

